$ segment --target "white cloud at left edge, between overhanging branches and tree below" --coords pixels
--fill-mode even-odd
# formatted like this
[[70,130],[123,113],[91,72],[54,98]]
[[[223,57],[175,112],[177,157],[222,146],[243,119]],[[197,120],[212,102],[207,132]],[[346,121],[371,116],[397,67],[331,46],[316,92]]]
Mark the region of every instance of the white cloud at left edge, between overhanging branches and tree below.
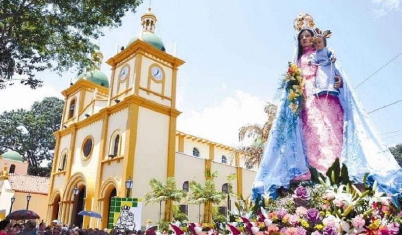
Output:
[[49,85],[33,90],[28,86],[17,83],[0,90],[0,114],[13,109],[29,109],[33,102],[41,101],[48,96],[63,98],[60,92]]

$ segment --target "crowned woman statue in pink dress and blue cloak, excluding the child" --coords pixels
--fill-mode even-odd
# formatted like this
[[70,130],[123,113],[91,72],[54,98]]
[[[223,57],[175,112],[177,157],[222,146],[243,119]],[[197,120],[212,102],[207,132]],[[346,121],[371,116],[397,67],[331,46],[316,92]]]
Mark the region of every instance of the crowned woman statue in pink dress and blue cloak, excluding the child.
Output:
[[293,62],[301,69],[304,100],[295,115],[289,90],[282,89],[276,119],[265,145],[260,168],[252,188],[252,197],[263,194],[276,197],[276,189],[288,188],[290,181],[308,180],[309,166],[321,173],[336,158],[346,164],[351,180],[377,181],[380,190],[396,198],[402,195],[402,169],[382,143],[339,60],[333,63],[338,82],[337,93],[316,93],[317,64],[311,64],[313,18],[301,13],[294,21],[297,30]]

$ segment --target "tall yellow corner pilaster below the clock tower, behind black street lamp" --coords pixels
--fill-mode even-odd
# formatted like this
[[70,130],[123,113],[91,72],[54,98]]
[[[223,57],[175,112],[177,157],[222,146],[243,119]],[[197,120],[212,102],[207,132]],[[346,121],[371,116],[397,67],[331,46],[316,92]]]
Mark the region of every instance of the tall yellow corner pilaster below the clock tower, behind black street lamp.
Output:
[[[137,125],[138,125],[139,106],[131,103],[128,106],[128,118],[126,123],[126,143],[124,151],[122,185],[120,188],[120,197],[126,197],[126,184],[124,183],[129,177],[133,179],[135,145],[137,143]],[[135,181],[137,179],[133,179]],[[138,179],[141,180],[141,179]]]

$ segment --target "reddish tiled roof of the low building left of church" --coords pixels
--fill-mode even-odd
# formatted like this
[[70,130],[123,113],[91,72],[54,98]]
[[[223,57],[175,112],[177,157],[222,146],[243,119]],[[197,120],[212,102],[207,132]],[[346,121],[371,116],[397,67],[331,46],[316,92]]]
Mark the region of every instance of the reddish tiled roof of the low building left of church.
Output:
[[45,194],[49,193],[50,178],[22,175],[22,174],[9,174],[8,180],[10,181],[11,188],[18,192],[29,192]]

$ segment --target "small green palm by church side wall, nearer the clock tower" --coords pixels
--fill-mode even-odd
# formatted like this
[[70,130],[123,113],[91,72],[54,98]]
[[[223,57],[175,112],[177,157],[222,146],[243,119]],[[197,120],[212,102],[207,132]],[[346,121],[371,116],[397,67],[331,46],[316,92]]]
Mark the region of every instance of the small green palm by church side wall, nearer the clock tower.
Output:
[[150,180],[151,192],[145,194],[145,204],[159,203],[159,223],[161,213],[162,202],[165,202],[165,216],[164,221],[170,222],[173,220],[173,202],[180,202],[183,197],[187,196],[187,193],[183,189],[176,188],[176,180],[174,177],[166,179],[166,184],[163,185],[161,181],[156,179]]

